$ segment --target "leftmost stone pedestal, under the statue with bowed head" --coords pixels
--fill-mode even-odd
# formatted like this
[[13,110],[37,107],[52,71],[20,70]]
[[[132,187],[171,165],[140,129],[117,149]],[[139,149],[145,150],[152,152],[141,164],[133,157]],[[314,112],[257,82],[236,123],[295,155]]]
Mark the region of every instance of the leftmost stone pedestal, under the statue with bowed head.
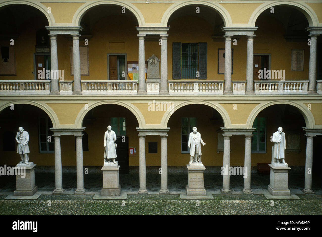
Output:
[[[33,194],[37,192],[38,187],[35,184],[35,166],[36,164],[33,162],[29,162],[28,165],[24,163],[17,164],[18,169],[20,169],[20,175],[16,175],[17,189],[14,191],[14,196],[33,196]],[[23,175],[21,175],[22,172],[24,172]]]

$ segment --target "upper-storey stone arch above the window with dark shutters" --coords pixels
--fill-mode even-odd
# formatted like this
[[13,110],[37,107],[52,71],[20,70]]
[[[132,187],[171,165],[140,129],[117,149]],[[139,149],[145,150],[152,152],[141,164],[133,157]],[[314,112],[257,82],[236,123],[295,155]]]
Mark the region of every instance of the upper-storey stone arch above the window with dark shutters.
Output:
[[178,9],[180,9],[181,7],[187,6],[187,5],[204,5],[204,6],[209,6],[210,8],[212,8],[213,10],[215,10],[216,12],[218,12],[218,14],[222,17],[223,19],[223,23],[225,27],[229,27],[232,25],[232,18],[230,17],[228,11],[221,5],[216,5],[210,2],[206,2],[206,1],[199,1],[199,0],[193,0],[193,1],[187,1],[184,3],[179,3],[179,4],[173,4],[171,5],[171,7],[169,7],[165,13],[162,16],[161,19],[161,25],[163,27],[167,27],[168,25],[168,21],[171,17],[171,15]]

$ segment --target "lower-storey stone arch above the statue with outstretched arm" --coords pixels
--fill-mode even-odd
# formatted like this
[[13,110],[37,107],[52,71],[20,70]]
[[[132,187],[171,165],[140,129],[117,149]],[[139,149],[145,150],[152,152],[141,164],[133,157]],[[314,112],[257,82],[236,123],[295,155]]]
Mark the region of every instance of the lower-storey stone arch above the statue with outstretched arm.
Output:
[[[176,110],[182,108],[185,105],[189,105],[189,104],[204,104],[204,105],[208,105],[208,106],[212,107],[222,117],[224,127],[231,127],[232,123],[230,121],[230,118],[229,118],[229,115],[228,115],[227,111],[222,106],[213,104],[213,103],[208,102],[208,101],[191,100],[191,101],[184,101],[184,102],[181,102],[181,103],[179,102],[178,104],[175,103],[175,105],[173,106],[172,111],[175,112]],[[170,117],[171,117],[170,111],[166,111],[166,113],[163,115],[163,118],[161,120],[161,127],[162,128],[167,127],[167,124],[169,122]]]

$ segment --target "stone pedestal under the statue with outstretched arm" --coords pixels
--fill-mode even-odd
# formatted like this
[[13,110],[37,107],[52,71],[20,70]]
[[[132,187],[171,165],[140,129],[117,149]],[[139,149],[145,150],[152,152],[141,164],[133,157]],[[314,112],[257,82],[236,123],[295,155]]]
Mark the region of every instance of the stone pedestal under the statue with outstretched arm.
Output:
[[203,163],[187,164],[188,184],[185,186],[187,196],[206,196],[204,188],[204,170]]

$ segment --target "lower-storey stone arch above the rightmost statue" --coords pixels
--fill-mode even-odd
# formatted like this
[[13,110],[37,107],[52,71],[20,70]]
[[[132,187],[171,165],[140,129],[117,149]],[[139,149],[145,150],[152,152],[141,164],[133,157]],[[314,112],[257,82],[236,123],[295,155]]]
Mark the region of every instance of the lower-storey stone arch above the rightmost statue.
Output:
[[289,104],[289,105],[294,106],[302,114],[302,116],[303,116],[303,118],[305,120],[306,126],[310,127],[310,128],[314,127],[315,122],[314,122],[314,119],[313,119],[313,115],[308,112],[308,108],[304,104],[300,105],[300,104],[297,104],[297,103],[294,103],[294,102],[291,102],[291,101],[287,101],[287,100],[272,101],[272,102],[267,102],[267,103],[264,103],[264,104],[257,105],[251,111],[251,114],[249,115],[249,117],[247,119],[247,123],[246,123],[247,127],[251,128],[253,123],[254,123],[254,120],[255,120],[256,116],[263,109],[265,109],[265,108],[267,108],[267,107],[269,107],[271,105],[274,105],[274,104]]

